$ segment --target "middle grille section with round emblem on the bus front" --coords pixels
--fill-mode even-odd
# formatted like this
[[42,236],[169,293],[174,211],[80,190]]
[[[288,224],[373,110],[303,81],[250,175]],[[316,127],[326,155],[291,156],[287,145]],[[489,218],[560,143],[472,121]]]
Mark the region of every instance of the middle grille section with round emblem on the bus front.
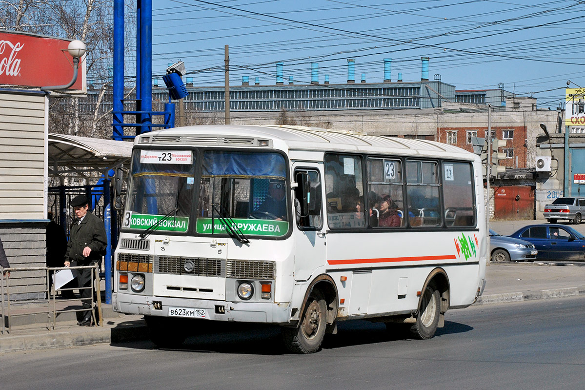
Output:
[[[185,271],[185,262],[194,265],[192,272]],[[154,256],[154,272],[173,275],[225,276],[225,261],[181,256]]]

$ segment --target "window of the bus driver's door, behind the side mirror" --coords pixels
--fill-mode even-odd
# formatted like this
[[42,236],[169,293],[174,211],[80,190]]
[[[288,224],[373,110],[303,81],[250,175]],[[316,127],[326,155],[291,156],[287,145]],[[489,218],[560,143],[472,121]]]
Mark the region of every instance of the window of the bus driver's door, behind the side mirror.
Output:
[[[321,228],[321,178],[319,172],[312,169],[297,169],[294,177],[295,182],[297,182],[294,193],[294,214],[298,227]],[[304,197],[306,197],[306,203],[303,200]]]

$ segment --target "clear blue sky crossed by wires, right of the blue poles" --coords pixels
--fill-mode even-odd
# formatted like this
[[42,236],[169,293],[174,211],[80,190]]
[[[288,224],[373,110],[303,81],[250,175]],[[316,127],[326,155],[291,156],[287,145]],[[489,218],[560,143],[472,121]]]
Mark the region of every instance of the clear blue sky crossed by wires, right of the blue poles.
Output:
[[[566,81],[585,86],[585,1],[558,0],[159,0],[153,1],[153,74],[185,61],[194,85],[223,84],[223,50],[230,48],[230,84],[242,76],[274,84],[277,61],[295,84],[347,79],[382,81],[441,75],[457,89],[497,88],[538,98],[541,108],[564,100]],[[574,86],[574,85],[572,85]]]

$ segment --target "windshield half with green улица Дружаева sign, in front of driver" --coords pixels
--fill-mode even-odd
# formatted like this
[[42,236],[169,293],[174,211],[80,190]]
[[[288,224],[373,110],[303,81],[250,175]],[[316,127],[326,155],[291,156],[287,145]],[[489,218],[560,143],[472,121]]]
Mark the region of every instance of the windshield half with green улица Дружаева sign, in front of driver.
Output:
[[202,156],[196,231],[246,236],[288,232],[287,165],[279,153],[207,151]]

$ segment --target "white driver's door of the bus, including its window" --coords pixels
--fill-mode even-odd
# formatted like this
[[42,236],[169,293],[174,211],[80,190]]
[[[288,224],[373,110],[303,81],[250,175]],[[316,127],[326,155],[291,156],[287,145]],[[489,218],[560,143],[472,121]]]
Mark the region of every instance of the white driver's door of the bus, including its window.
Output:
[[295,228],[294,278],[308,280],[325,264],[326,238],[322,211],[322,175],[319,164],[295,163],[293,180]]

